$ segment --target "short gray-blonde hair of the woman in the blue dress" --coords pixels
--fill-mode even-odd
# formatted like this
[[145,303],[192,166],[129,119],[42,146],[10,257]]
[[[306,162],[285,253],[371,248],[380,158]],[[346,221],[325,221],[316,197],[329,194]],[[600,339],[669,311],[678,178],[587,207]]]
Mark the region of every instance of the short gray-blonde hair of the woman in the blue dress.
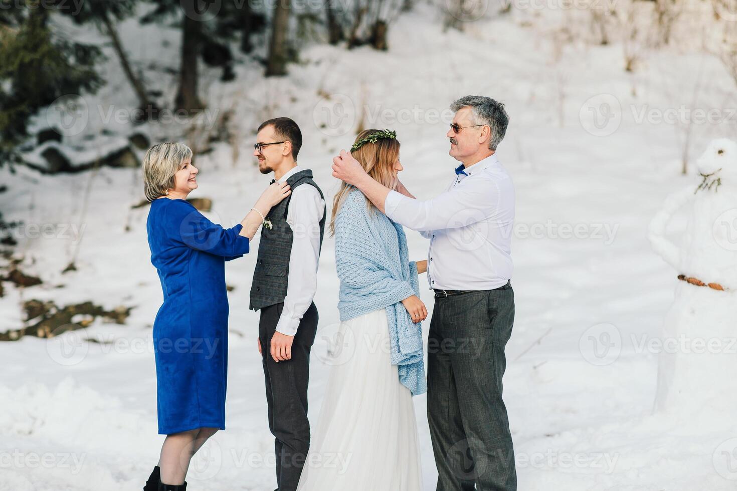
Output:
[[152,146],[143,158],[143,190],[146,199],[153,201],[174,187],[174,174],[184,160],[192,158],[189,146],[166,143]]

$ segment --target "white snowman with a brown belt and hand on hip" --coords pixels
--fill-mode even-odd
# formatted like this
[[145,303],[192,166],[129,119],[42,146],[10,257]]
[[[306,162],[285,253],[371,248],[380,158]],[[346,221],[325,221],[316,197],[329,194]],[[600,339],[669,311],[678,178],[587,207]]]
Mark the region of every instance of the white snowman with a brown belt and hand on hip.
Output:
[[[676,270],[654,409],[703,419],[737,411],[737,144],[712,141],[697,169],[700,182],[666,199],[648,238]],[[666,227],[686,205],[688,225],[677,245]]]

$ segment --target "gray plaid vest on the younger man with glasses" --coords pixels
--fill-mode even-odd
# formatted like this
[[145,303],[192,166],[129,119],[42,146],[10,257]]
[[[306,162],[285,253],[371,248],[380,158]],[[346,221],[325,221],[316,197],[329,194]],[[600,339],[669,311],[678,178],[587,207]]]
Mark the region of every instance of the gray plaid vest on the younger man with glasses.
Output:
[[[320,197],[325,199],[321,189],[312,180],[310,169],[297,172],[287,179],[292,192],[297,186],[308,184],[315,186]],[[292,241],[294,238],[292,227],[287,224],[287,212],[289,211],[290,194],[278,205],[271,208],[268,219],[272,228],[261,228],[261,242],[259,243],[259,256],[256,260],[254,271],[254,283],[251,284],[251,310],[258,311],[259,308],[268,307],[276,303],[284,302],[287,296],[287,276],[289,275],[289,258],[292,252]],[[326,210],[323,209],[323,218],[320,220],[320,248],[325,230]],[[310,230],[300,230],[300,233],[310,233]]]

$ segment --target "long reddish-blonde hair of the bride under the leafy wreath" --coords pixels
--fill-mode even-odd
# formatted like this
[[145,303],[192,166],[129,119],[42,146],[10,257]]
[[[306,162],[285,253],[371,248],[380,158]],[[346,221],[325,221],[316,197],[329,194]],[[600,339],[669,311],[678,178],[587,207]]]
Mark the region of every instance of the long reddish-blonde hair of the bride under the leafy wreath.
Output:
[[[378,131],[363,130],[356,136],[356,143]],[[399,141],[397,141],[397,138],[380,138],[376,143],[363,144],[360,148],[354,150],[351,155],[358,160],[366,174],[370,175],[377,183],[392,190],[397,188],[397,172],[394,171],[394,163],[399,158]],[[330,218],[331,236],[335,235],[335,217],[338,216],[340,207],[343,206],[343,202],[352,189],[354,189],[354,186],[343,182],[340,184],[338,192],[335,193],[335,198],[332,201],[332,217]],[[368,199],[366,199],[366,206],[371,211],[377,210]]]

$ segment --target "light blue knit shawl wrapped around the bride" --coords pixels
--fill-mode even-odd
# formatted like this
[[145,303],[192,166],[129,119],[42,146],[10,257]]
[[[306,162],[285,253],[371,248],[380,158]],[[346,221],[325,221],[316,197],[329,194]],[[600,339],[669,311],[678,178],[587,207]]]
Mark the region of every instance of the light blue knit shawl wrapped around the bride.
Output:
[[340,320],[386,309],[391,364],[412,395],[427,391],[422,325],[412,322],[402,300],[419,297],[417,265],[409,261],[402,225],[369,211],[358,189],[349,192],[335,217],[335,266],[340,278]]

